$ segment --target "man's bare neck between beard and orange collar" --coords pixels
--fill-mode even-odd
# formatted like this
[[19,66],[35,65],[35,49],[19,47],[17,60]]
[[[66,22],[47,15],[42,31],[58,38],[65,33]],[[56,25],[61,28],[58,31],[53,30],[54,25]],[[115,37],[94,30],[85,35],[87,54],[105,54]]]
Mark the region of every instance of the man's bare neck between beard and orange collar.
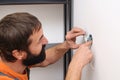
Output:
[[3,61],[11,70],[20,73],[20,74],[24,74],[25,73],[25,68],[26,66],[24,66],[21,61],[16,61],[16,62],[7,62],[7,61]]

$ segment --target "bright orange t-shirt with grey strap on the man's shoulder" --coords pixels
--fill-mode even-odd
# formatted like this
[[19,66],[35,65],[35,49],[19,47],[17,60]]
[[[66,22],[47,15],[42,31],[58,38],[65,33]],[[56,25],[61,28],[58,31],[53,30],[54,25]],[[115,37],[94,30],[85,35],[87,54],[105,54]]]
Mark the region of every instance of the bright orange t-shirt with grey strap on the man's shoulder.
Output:
[[0,80],[14,80],[14,78],[18,78],[19,80],[28,80],[27,73],[26,74],[17,73],[11,70],[2,61],[0,61],[0,72],[13,77],[13,78],[10,78],[8,76],[0,75]]

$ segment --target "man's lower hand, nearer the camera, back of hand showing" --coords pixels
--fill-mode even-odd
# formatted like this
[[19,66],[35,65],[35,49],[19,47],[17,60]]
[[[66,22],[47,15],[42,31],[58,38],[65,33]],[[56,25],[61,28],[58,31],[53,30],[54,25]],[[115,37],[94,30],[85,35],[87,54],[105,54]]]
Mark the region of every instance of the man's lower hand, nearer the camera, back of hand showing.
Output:
[[91,44],[91,41],[83,43],[76,50],[75,54],[73,55],[73,61],[75,65],[83,68],[86,64],[88,64],[91,61],[93,57],[93,54],[89,49],[89,46],[91,46]]

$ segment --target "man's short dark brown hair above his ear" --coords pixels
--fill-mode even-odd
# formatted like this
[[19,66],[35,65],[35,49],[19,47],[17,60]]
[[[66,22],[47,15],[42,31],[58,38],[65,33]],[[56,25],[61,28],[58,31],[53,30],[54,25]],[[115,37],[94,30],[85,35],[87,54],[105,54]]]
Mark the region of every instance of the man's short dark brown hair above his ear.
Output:
[[12,13],[0,20],[0,56],[9,62],[17,59],[12,51],[26,50],[33,31],[39,31],[41,22],[26,12]]

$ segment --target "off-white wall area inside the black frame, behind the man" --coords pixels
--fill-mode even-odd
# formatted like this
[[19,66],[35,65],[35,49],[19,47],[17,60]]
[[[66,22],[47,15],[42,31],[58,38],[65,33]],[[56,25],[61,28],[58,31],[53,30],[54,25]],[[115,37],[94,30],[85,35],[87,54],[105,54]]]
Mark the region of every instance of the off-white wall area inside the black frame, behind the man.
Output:
[[[64,41],[63,4],[0,5],[0,19],[14,12],[29,12],[42,22],[49,43]],[[63,58],[46,68],[31,69],[30,80],[63,80]]]

